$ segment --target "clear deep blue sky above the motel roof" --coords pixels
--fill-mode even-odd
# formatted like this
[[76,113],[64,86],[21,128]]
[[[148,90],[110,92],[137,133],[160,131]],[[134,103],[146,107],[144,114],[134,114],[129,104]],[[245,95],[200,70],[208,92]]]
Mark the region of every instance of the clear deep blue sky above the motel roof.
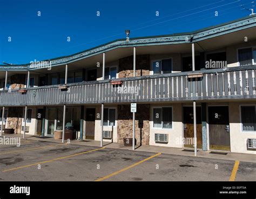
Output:
[[198,30],[248,16],[242,4],[256,9],[253,0],[0,0],[0,64],[67,56],[125,38],[125,29],[130,37]]

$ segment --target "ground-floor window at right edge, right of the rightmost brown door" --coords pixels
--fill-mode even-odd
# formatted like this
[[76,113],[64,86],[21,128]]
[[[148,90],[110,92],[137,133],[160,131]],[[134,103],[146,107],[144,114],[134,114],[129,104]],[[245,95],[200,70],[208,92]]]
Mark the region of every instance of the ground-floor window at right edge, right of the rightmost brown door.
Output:
[[241,106],[242,131],[256,131],[256,106]]

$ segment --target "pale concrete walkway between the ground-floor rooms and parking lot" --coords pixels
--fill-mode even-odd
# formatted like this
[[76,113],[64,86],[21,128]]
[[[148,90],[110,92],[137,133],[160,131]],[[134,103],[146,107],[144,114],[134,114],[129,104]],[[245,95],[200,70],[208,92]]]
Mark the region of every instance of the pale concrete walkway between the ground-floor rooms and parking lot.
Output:
[[[11,136],[23,138],[23,134],[3,134],[3,136]],[[35,141],[45,141],[45,142],[62,142],[61,139],[54,139],[49,137],[40,138],[37,135],[26,135],[26,140],[35,140]],[[83,146],[92,146],[92,147],[100,147],[100,142],[95,140],[71,140],[70,142],[73,145],[83,145]],[[111,143],[111,142],[103,142],[103,147],[105,148],[113,148],[113,149],[125,149],[132,150],[132,147],[126,147],[120,143]],[[188,149],[191,151],[184,151],[184,149]],[[194,156],[193,148],[172,148],[172,147],[158,147],[158,146],[137,146],[136,151],[141,152],[153,152],[153,153],[162,153],[162,154],[172,154],[172,155],[183,155],[183,156]],[[201,149],[198,149],[197,157],[205,157],[210,159],[219,159],[219,160],[237,160],[242,162],[253,162],[256,163],[256,155],[254,154],[242,154],[242,153],[231,153],[225,152],[226,155],[223,154],[212,154],[211,151],[204,152]]]

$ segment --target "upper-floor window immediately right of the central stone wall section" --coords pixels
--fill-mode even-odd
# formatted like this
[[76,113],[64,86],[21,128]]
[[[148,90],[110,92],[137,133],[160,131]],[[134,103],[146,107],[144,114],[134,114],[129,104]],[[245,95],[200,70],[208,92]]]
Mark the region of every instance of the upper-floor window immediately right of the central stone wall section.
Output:
[[164,74],[172,72],[172,59],[153,61],[153,73]]

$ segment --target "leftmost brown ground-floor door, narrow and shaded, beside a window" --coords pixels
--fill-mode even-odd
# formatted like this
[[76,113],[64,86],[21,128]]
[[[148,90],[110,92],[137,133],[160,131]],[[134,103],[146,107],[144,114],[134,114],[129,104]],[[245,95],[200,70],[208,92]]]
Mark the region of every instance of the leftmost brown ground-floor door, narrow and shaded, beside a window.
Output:
[[95,108],[86,108],[85,138],[94,140],[95,136]]

